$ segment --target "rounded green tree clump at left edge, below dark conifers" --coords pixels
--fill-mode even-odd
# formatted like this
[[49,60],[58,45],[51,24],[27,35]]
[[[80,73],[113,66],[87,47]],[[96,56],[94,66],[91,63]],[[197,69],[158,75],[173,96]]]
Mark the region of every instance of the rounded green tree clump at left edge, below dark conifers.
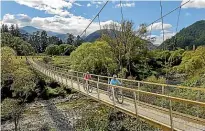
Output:
[[14,37],[10,33],[2,33],[1,38],[2,46],[13,48],[17,55],[32,55],[34,53],[32,46],[19,37]]

